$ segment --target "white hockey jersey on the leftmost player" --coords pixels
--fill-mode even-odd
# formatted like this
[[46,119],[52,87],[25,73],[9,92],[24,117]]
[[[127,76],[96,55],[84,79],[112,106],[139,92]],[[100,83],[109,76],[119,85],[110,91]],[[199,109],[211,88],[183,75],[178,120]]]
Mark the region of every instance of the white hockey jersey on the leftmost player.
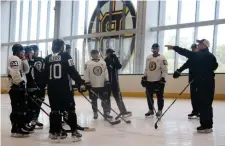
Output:
[[27,60],[21,60],[17,56],[8,59],[8,74],[11,76],[11,84],[19,85],[21,81],[26,81],[25,74],[29,72]]

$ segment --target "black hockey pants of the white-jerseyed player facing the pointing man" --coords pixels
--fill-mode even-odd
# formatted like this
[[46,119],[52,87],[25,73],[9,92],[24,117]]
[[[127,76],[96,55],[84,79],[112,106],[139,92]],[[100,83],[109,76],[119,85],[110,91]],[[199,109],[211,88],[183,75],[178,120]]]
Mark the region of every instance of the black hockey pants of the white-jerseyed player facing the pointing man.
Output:
[[160,84],[159,82],[148,82],[146,87],[147,94],[147,102],[149,110],[153,110],[154,107],[154,99],[153,94],[156,93],[157,96],[157,104],[158,110],[162,110],[164,107],[164,84]]

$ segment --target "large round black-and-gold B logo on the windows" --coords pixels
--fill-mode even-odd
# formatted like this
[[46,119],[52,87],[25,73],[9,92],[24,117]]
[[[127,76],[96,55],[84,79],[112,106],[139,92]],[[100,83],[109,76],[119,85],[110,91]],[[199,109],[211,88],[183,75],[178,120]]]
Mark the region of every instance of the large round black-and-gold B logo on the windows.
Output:
[[[88,33],[102,33],[136,28],[136,12],[131,1],[98,1],[91,20]],[[129,62],[135,47],[135,34],[114,35],[88,39],[89,52],[99,49],[105,53],[108,48],[119,55],[122,69]]]

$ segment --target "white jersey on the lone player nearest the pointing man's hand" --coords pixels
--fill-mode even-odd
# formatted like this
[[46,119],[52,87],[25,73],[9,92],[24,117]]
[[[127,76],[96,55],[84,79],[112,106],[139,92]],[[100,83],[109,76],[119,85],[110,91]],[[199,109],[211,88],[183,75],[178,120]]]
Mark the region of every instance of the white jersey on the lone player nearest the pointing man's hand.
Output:
[[159,81],[162,77],[166,78],[168,73],[167,61],[163,55],[153,57],[149,55],[146,59],[146,67],[144,76],[147,77],[147,81],[154,82]]

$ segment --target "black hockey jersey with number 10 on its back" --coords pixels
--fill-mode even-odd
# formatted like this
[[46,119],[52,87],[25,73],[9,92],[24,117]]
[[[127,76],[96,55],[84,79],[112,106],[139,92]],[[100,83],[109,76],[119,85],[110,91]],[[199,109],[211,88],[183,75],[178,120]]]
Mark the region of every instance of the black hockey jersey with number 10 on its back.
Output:
[[72,57],[67,52],[50,54],[45,58],[45,79],[49,93],[67,93],[73,91],[72,80],[84,84],[75,69]]

